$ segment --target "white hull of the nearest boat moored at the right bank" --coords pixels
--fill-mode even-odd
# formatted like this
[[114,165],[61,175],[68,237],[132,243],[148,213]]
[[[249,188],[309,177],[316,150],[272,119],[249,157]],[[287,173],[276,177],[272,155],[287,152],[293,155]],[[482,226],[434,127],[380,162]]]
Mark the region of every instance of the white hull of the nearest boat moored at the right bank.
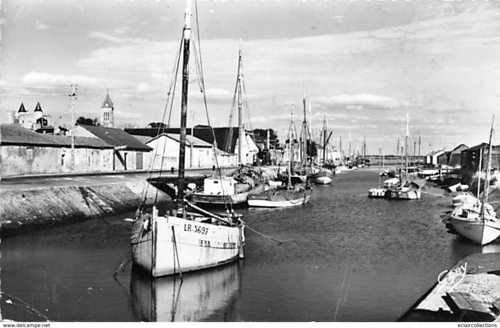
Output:
[[466,219],[451,216],[453,229],[461,236],[472,240],[479,245],[485,245],[500,236],[500,224],[498,221]]

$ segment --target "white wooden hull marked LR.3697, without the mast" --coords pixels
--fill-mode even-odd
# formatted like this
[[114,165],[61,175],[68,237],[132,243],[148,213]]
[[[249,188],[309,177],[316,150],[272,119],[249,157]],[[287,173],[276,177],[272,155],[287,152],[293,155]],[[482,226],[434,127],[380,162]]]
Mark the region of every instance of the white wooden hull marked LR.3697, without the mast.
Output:
[[242,257],[244,226],[176,216],[141,217],[132,226],[132,261],[152,276],[200,270]]

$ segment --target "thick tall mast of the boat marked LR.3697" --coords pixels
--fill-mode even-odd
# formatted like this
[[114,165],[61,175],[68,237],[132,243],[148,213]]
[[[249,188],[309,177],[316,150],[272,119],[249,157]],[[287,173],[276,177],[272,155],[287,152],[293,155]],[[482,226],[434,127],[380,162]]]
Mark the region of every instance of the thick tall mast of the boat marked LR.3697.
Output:
[[186,0],[183,29],[182,96],[180,103],[179,174],[177,206],[184,204],[184,165],[187,123],[187,87],[189,84],[189,43],[191,39],[191,1]]

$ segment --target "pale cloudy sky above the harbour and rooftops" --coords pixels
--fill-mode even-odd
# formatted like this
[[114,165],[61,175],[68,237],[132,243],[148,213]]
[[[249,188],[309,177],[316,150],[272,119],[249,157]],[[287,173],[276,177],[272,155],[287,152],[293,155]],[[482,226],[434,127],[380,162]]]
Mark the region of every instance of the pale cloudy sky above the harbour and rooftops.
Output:
[[[184,6],[3,0],[0,118],[40,102],[54,126],[68,125],[77,85],[76,118],[100,117],[109,90],[117,127],[161,121]],[[303,95],[313,134],[326,117],[330,144],[341,138],[346,150],[350,137],[360,150],[364,137],[370,154],[396,153],[406,113],[410,151],[419,138],[421,154],[487,142],[500,108],[500,2],[205,0],[193,3],[191,22],[213,126],[237,124],[236,113],[229,117],[239,39],[245,128],[272,128],[281,141],[292,106],[300,131]],[[188,126],[207,124],[193,56],[189,67]],[[179,125],[179,90],[171,126]]]

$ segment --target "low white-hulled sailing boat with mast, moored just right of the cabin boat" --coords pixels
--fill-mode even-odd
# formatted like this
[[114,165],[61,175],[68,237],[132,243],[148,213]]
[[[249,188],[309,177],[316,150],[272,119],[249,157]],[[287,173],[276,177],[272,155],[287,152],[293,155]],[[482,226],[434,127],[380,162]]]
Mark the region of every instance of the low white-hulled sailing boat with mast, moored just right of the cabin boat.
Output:
[[[309,201],[312,194],[312,188],[307,183],[307,179],[303,180],[302,176],[293,174],[293,131],[295,125],[293,123],[293,107],[291,109],[291,124],[288,129],[288,148],[289,160],[286,179],[283,180],[283,175],[280,176],[283,185],[276,189],[270,189],[259,194],[248,196],[248,206],[250,207],[290,207],[302,205]],[[296,135],[296,134],[295,134]]]

